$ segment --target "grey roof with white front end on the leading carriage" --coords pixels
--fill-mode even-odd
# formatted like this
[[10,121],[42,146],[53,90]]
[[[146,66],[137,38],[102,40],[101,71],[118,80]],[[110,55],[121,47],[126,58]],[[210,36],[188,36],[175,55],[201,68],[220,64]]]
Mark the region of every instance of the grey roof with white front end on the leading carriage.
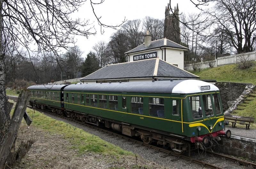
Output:
[[173,81],[138,81],[138,82],[112,82],[71,84],[64,91],[102,91],[102,92],[141,92],[141,93],[178,93],[189,94],[205,91],[217,91],[219,88],[211,83],[199,80],[173,80]]

